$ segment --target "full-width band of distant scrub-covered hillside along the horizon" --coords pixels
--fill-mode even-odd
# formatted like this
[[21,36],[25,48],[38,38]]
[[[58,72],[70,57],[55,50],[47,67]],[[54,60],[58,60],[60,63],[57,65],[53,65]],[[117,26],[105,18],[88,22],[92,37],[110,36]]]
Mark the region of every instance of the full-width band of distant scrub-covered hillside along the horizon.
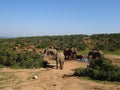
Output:
[[55,46],[61,50],[67,47],[76,47],[78,50],[100,49],[114,51],[120,49],[119,38],[120,33],[7,38],[0,39],[0,49],[12,48],[16,44],[20,44],[21,48],[34,45],[35,48]]

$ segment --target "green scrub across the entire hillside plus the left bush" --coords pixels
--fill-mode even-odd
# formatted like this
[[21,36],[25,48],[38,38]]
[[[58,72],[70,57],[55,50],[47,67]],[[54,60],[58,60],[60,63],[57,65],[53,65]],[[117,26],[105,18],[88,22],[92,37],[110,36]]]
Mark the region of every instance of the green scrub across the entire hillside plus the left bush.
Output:
[[[64,35],[64,36],[36,36],[0,39],[0,64],[9,67],[32,68],[41,67],[42,57],[36,58],[34,52],[23,51],[27,46],[35,49],[58,47],[63,50],[67,47],[75,47],[78,51],[100,49],[106,51],[120,50],[120,34],[94,34],[88,35]],[[14,50],[16,44],[20,47]],[[88,52],[86,52],[87,54]],[[33,62],[36,61],[36,62]]]

